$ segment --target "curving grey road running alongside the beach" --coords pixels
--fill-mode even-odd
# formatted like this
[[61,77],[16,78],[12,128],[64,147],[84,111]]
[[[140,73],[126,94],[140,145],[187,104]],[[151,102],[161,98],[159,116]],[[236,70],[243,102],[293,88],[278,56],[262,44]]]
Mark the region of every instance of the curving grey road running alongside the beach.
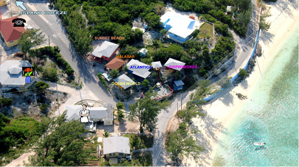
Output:
[[[228,69],[228,76],[235,76],[237,71],[239,72],[239,68],[243,68],[246,62],[248,61],[249,57],[251,56],[251,53],[253,51],[255,37],[256,37],[256,28],[257,28],[257,7],[256,7],[256,0],[252,0],[253,9],[252,9],[252,15],[251,20],[248,24],[248,31],[247,31],[247,37],[245,39],[240,39],[239,36],[233,33],[234,39],[236,42],[241,42],[240,48],[241,50],[238,52],[237,57],[234,61],[234,64]],[[237,70],[235,70],[237,69]],[[194,92],[194,91],[193,91]],[[191,92],[188,93],[183,98],[183,103],[185,104],[189,101]],[[164,140],[164,134],[166,130],[167,123],[170,119],[170,117],[175,113],[177,110],[177,104],[180,108],[180,102],[174,101],[170,108],[166,111],[161,111],[161,113],[158,115],[158,122],[157,122],[157,129],[154,131],[154,143],[153,143],[153,151],[152,151],[152,166],[164,166],[165,164],[169,163],[170,160],[167,159],[169,154],[167,153],[163,140]]]

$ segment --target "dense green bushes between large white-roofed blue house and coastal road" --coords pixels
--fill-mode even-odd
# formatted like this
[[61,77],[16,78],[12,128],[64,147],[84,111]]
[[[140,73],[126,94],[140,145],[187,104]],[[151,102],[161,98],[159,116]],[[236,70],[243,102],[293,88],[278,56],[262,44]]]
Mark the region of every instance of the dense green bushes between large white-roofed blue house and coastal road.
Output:
[[[246,36],[247,24],[250,21],[250,14],[251,14],[250,0],[170,0],[170,1],[172,1],[173,7],[178,10],[193,11],[196,13],[203,14],[203,19],[206,19],[208,21],[217,24],[223,23],[223,25],[221,26],[231,27],[240,36],[242,37]],[[225,15],[227,5],[235,6],[235,7],[233,7],[231,12]],[[221,23],[216,22],[215,18],[221,21]],[[217,31],[216,27],[215,30]]]

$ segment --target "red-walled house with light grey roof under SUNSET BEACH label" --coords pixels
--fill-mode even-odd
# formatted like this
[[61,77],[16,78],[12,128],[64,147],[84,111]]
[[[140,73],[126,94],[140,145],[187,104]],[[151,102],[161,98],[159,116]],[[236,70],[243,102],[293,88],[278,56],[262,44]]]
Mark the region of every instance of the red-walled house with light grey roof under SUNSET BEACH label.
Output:
[[101,46],[91,53],[91,59],[102,62],[103,60],[110,61],[110,59],[119,51],[119,45],[112,42],[105,41]]

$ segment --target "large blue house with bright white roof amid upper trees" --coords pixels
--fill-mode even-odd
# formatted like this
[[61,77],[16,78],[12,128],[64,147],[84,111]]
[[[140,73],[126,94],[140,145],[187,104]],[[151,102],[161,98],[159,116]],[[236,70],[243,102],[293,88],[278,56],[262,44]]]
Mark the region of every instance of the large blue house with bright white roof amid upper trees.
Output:
[[163,14],[160,21],[163,28],[168,31],[167,37],[180,44],[190,39],[193,31],[200,27],[198,21],[172,11]]

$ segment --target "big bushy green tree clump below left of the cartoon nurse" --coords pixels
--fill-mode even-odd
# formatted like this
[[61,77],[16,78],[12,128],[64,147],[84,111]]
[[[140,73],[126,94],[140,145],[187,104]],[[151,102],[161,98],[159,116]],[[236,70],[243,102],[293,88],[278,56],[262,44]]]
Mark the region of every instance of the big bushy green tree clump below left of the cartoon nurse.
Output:
[[30,158],[32,166],[80,166],[88,157],[85,129],[78,120],[66,121],[66,112],[43,121],[45,133],[35,144],[36,157]]

